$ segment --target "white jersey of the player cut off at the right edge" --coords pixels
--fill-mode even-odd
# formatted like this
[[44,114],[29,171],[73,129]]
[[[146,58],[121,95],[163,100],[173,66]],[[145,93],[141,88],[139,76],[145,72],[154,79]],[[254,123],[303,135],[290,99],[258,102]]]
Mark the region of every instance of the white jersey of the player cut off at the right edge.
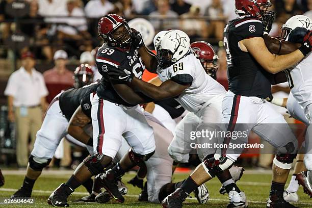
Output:
[[312,53],[284,72],[287,74],[291,92],[305,109],[312,103]]

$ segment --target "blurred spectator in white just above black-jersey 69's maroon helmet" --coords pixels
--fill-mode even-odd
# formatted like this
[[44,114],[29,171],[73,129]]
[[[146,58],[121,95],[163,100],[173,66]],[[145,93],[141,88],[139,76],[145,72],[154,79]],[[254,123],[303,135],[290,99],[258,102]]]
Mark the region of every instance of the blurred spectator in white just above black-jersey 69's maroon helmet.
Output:
[[85,13],[89,18],[99,18],[113,9],[114,5],[107,0],[90,0],[85,7]]

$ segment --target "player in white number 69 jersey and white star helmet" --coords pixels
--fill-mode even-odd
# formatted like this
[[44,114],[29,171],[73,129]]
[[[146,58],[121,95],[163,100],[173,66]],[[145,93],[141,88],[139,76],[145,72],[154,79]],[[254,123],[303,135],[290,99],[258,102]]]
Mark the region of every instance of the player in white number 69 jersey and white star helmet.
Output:
[[[214,131],[217,127],[216,124],[222,120],[221,103],[226,91],[222,85],[205,73],[200,61],[190,47],[190,39],[186,33],[179,30],[169,30],[157,34],[154,38],[157,57],[144,46],[139,33],[134,33],[133,39],[139,48],[139,53],[146,64],[146,68],[151,72],[157,72],[163,83],[160,86],[154,86],[140,81],[136,79],[131,71],[126,69],[122,71],[112,70],[109,72],[110,79],[126,82],[133,89],[141,91],[154,100],[175,97],[181,106],[191,112],[182,119],[176,128],[174,140],[179,141],[178,146],[175,145],[175,147],[170,144],[168,147],[169,154],[175,161],[187,163],[190,160],[189,153],[193,148],[190,146],[191,141],[184,138],[184,124],[194,124],[196,131],[206,128]],[[126,96],[121,91],[119,94]],[[212,140],[198,139],[200,144],[216,142],[214,141],[215,138],[212,138]],[[213,154],[215,149],[199,148],[197,152],[202,160],[206,155]],[[229,171],[218,173],[218,178],[229,193],[230,206],[246,207],[246,196],[236,186]],[[197,187],[189,193],[193,192]],[[178,186],[168,185],[164,191],[170,194],[176,188]],[[164,196],[166,195],[164,194]],[[240,206],[236,201],[239,201]]]

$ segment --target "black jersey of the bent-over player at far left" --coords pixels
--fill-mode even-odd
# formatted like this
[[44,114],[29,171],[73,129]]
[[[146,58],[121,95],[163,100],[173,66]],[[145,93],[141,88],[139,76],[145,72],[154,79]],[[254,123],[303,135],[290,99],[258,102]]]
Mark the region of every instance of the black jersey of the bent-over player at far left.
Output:
[[[70,120],[71,116],[76,111],[76,109],[82,104],[83,98],[85,96],[89,98],[90,94],[92,94],[93,92],[96,92],[96,89],[99,85],[100,85],[99,81],[96,81],[82,88],[77,88],[77,89],[72,88],[72,89],[66,90],[59,96],[60,108],[62,110],[63,115],[67,118],[68,121]],[[85,99],[85,100],[88,100],[88,99]],[[88,105],[90,106],[90,113],[86,115],[91,118],[91,102],[89,102]],[[84,112],[86,113],[86,111]]]

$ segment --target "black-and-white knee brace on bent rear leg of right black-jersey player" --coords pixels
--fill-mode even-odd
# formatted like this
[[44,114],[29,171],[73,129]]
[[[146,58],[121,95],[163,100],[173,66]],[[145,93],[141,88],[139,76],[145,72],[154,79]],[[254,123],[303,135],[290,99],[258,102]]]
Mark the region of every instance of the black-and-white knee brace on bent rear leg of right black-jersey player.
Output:
[[215,177],[218,173],[232,167],[233,163],[226,156],[209,154],[202,162],[202,166],[211,177]]

